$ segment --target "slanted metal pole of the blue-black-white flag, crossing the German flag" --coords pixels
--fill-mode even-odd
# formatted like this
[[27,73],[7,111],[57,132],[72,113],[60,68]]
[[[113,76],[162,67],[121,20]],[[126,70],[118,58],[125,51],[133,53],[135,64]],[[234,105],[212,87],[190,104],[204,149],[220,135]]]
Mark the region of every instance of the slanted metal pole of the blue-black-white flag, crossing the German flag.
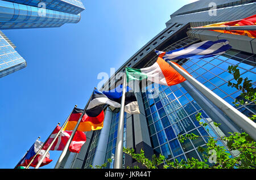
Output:
[[[96,88],[94,88],[94,89],[96,89]],[[82,117],[83,117],[84,114],[85,114],[85,111],[86,111],[86,109],[87,109],[87,107],[88,107],[88,105],[89,105],[89,103],[90,103],[90,100],[92,100],[93,93],[94,93],[94,90],[93,90],[93,92],[92,92],[92,95],[90,96],[89,101],[87,102],[87,104],[86,104],[86,106],[85,106],[85,108],[84,108],[84,111],[82,112],[82,114],[81,114],[79,120],[77,121],[76,126],[75,126],[74,130],[72,131],[71,136],[70,136],[69,139],[68,139],[67,144],[65,145],[65,147],[64,147],[64,149],[63,149],[63,151],[62,151],[62,153],[61,153],[61,155],[60,155],[59,160],[56,162],[55,169],[59,169],[59,168],[60,168],[61,162],[63,161],[63,158],[65,157],[65,155],[66,155],[66,153],[67,153],[67,151],[68,151],[69,145],[71,144],[72,139],[73,139],[74,136],[75,136],[76,130],[77,130],[77,128],[79,127],[79,124],[80,124],[80,122],[81,122],[81,120],[82,120]]]

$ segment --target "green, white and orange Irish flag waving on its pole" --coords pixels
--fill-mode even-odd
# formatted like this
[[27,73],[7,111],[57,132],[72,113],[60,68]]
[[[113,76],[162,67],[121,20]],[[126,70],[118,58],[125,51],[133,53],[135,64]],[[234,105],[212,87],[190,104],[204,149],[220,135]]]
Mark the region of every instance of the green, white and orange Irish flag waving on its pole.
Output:
[[[184,82],[186,79],[164,61],[162,58],[163,55],[159,55],[158,60],[150,67],[141,69],[126,67],[127,82],[130,82],[131,80],[148,79],[151,82],[167,86]],[[177,63],[175,63],[175,65],[187,72]]]

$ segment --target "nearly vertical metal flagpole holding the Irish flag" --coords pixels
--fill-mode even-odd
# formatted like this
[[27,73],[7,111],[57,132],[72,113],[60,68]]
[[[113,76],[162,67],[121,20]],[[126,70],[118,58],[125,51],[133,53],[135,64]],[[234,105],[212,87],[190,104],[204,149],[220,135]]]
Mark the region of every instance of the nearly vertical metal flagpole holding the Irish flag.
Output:
[[123,165],[123,118],[125,116],[125,92],[126,92],[126,73],[123,76],[121,107],[119,112],[118,129],[117,129],[117,147],[115,149],[114,169],[122,169]]

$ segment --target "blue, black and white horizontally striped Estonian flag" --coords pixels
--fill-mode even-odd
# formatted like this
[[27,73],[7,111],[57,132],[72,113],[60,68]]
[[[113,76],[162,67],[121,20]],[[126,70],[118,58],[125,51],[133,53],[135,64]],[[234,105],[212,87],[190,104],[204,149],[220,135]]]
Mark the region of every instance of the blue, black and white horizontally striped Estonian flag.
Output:
[[[95,90],[92,96],[92,100],[88,105],[88,110],[101,105],[108,104],[114,108],[121,107],[122,98],[122,85],[110,91],[98,91]],[[137,98],[130,87],[127,86],[125,93],[125,112],[130,114],[139,114],[139,106]]]

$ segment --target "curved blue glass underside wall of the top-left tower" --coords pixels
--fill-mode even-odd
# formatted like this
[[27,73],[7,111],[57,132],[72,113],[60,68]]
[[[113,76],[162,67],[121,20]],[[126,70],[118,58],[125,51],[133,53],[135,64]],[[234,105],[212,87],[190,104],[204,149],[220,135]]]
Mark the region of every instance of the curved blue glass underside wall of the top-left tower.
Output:
[[0,29],[60,27],[78,23],[80,18],[80,14],[0,1]]

